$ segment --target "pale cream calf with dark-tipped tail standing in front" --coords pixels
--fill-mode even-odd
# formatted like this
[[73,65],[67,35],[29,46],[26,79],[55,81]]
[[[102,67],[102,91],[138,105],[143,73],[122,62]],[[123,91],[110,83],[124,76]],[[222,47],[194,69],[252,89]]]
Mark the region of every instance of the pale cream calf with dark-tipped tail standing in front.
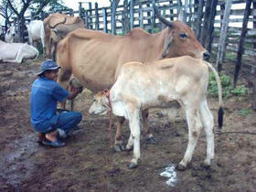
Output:
[[213,70],[219,87],[219,127],[222,126],[223,118],[221,85],[217,71],[208,62],[189,56],[146,64],[124,64],[112,89],[100,91],[94,96],[89,112],[104,114],[112,109],[113,114],[129,121],[131,135],[126,149],[133,148],[129,168],[134,168],[140,158],[140,111],[168,107],[172,101],[177,101],[186,112],[188,125],[187,151],[177,168],[184,170],[187,167],[203,127],[207,138],[204,165],[209,166],[214,158],[214,123],[207,101],[208,68]]

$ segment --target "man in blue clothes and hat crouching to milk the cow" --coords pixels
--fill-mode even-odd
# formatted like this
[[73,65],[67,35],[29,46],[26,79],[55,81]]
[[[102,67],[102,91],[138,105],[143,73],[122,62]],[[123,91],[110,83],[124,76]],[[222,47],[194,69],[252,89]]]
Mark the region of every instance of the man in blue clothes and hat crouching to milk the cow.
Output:
[[59,137],[66,137],[82,118],[80,112],[57,113],[58,101],[71,100],[80,92],[80,89],[69,92],[59,85],[59,68],[51,59],[44,61],[37,80],[32,84],[30,96],[30,120],[38,133],[39,142],[54,147],[65,145]]

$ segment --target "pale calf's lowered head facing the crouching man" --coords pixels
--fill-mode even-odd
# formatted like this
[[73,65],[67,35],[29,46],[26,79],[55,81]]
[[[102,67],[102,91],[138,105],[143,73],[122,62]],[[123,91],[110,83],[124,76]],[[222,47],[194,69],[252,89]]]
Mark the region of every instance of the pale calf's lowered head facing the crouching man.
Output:
[[106,114],[110,111],[109,100],[108,97],[110,95],[109,90],[99,91],[93,97],[93,102],[89,109],[89,113],[91,114]]

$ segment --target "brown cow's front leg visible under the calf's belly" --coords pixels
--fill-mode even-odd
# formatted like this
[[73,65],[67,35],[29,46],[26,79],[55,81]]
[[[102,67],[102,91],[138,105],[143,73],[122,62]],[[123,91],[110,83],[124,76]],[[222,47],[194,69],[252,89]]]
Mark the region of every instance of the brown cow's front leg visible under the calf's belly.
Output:
[[147,144],[157,144],[157,140],[155,139],[154,135],[150,133],[150,129],[148,126],[148,109],[145,109],[142,111],[142,117],[143,117],[143,128],[144,128],[144,136],[145,141]]

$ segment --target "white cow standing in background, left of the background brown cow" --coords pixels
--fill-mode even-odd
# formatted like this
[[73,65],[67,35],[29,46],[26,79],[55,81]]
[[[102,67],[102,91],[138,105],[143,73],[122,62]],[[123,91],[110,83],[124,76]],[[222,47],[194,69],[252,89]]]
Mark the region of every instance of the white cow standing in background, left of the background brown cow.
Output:
[[34,20],[27,26],[27,33],[30,45],[34,46],[35,41],[41,41],[43,49],[45,49],[45,33],[44,33],[44,23],[40,20]]

